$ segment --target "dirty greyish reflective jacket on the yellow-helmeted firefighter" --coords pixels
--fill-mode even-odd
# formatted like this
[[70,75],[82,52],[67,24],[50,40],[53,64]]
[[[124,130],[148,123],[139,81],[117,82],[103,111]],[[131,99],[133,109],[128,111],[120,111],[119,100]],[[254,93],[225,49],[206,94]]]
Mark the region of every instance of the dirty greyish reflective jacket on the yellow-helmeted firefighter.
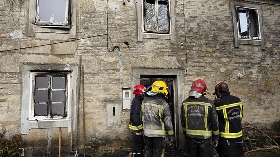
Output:
[[144,97],[141,106],[143,133],[148,137],[166,137],[174,134],[171,113],[164,96]]

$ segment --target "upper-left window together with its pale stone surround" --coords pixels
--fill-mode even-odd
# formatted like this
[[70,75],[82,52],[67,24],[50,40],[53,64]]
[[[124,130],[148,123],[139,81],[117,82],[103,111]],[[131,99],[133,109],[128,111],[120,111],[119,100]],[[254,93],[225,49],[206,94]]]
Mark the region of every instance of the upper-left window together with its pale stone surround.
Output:
[[70,38],[76,38],[76,21],[77,0],[29,0],[29,37],[40,32],[70,34]]

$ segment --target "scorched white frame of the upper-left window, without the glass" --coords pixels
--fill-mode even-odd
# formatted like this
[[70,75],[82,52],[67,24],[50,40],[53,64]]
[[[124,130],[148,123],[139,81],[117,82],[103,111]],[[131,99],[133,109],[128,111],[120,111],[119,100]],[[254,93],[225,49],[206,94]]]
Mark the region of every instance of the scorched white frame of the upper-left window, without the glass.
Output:
[[[53,21],[54,20],[54,17],[53,16],[53,19],[50,18],[49,21],[41,21],[40,18],[39,18],[39,12],[40,12],[40,7],[39,7],[39,0],[36,0],[36,17],[35,17],[35,23],[34,25],[42,25],[42,26],[47,26],[47,27],[50,27],[50,26],[54,26],[54,27],[59,27],[59,26],[62,26],[62,27],[70,27],[70,14],[71,14],[71,10],[70,10],[70,4],[71,4],[71,0],[65,0],[65,18],[64,18],[64,21],[59,21],[59,22],[55,22]],[[41,6],[42,7],[42,6]]]

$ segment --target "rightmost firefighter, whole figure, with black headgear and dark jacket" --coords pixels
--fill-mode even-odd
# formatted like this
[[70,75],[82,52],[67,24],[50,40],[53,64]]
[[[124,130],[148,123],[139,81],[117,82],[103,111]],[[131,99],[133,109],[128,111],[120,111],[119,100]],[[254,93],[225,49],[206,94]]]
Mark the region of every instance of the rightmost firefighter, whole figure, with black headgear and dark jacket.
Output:
[[243,106],[240,99],[230,95],[228,85],[218,85],[214,101],[219,117],[220,138],[216,148],[219,157],[243,157],[242,116]]

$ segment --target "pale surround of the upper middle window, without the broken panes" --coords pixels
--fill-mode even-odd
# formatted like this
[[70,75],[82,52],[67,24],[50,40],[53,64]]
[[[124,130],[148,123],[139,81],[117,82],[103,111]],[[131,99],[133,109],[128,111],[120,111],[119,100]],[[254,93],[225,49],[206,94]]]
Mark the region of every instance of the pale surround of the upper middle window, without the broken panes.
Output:
[[176,44],[176,27],[175,27],[175,0],[168,0],[170,11],[170,32],[163,33],[150,33],[144,31],[144,6],[143,0],[137,0],[137,35],[138,41],[143,42],[144,38],[152,39],[168,39],[172,44]]

